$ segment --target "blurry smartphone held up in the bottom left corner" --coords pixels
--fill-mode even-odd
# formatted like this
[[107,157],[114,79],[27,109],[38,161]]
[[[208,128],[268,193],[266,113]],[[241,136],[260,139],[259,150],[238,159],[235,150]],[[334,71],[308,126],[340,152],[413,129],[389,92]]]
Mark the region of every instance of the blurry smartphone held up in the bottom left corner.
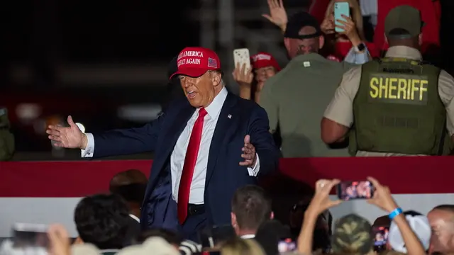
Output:
[[12,230],[15,247],[48,247],[47,225],[16,223]]

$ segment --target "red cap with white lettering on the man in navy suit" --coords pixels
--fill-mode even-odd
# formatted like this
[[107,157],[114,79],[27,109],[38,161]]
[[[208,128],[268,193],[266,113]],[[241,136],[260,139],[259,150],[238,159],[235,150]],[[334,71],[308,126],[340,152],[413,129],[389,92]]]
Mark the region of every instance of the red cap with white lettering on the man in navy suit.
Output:
[[183,74],[189,77],[200,77],[210,70],[221,69],[221,61],[213,50],[204,47],[185,47],[177,57],[177,72],[175,75]]

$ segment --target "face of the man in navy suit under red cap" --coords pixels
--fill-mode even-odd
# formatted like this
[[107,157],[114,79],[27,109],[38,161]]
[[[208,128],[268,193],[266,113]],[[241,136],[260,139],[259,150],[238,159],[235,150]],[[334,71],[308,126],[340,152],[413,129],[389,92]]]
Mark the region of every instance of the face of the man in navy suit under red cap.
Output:
[[200,77],[179,75],[182,89],[191,106],[195,108],[207,107],[221,91],[221,73],[208,71]]

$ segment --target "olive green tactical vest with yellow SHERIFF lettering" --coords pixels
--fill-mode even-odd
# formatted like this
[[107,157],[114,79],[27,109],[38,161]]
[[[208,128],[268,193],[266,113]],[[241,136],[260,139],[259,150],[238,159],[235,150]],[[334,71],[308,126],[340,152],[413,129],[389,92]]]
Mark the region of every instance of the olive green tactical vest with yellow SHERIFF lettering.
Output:
[[449,154],[446,110],[438,95],[440,71],[402,58],[362,65],[360,88],[353,100],[350,154],[358,150]]

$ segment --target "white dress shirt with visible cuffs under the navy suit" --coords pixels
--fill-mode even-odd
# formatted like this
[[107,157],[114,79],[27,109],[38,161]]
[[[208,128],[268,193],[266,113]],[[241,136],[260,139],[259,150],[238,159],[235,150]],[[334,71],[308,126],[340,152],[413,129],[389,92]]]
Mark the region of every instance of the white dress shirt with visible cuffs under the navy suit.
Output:
[[[211,140],[214,135],[214,129],[218,122],[219,113],[223,103],[227,98],[227,89],[224,87],[221,92],[214,98],[213,102],[205,108],[206,116],[204,118],[204,128],[201,133],[200,149],[197,154],[196,166],[194,169],[194,175],[192,176],[191,191],[189,192],[189,203],[191,204],[203,204],[204,203],[204,191],[205,191],[205,177],[206,168],[208,166],[209,150]],[[187,146],[189,145],[189,138],[191,137],[192,128],[194,123],[199,116],[199,109],[196,109],[192,117],[188,120],[186,128],[184,128],[181,135],[177,140],[172,154],[170,155],[170,174],[172,176],[172,198],[175,202],[178,202],[178,188],[179,180],[182,177],[184,158],[186,157]],[[226,117],[227,118],[227,117]],[[94,137],[92,134],[87,133],[87,147],[82,149],[82,157],[93,157],[94,152]],[[241,148],[238,148],[238,153],[242,154]],[[260,160],[258,154],[255,154],[257,158],[255,166],[253,168],[248,167],[248,173],[250,176],[257,176],[260,170]],[[239,162],[238,162],[239,163]]]

